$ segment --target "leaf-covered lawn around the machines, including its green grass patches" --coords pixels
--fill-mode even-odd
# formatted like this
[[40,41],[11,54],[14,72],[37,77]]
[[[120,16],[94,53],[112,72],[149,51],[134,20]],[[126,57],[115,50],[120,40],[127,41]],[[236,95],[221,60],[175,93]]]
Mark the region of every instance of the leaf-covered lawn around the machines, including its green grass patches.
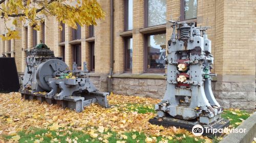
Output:
[[[76,113],[57,105],[27,101],[19,93],[0,93],[0,142],[218,142],[175,127],[148,123],[159,100],[111,94],[111,108],[96,104]],[[226,110],[237,127],[249,113]]]

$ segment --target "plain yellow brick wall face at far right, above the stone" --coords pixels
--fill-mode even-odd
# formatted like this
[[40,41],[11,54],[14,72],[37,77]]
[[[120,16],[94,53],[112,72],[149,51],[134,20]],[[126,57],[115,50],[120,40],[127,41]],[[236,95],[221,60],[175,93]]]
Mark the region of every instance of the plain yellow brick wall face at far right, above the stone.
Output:
[[255,74],[255,1],[224,1],[223,75]]

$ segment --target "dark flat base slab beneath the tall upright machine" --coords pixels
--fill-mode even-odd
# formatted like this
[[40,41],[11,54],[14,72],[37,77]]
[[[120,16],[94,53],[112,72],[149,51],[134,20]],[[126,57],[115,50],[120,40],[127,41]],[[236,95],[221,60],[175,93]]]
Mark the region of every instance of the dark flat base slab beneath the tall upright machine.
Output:
[[158,117],[151,118],[149,122],[151,124],[155,124],[159,126],[161,125],[163,127],[175,126],[176,128],[184,128],[188,131],[192,131],[192,128],[195,125],[201,125],[204,128],[203,135],[208,136],[210,138],[213,138],[215,136],[220,136],[221,133],[218,133],[218,132],[212,133],[212,130],[206,132],[206,128],[219,130],[229,126],[229,120],[225,120],[224,118],[219,118],[216,122],[211,123],[209,125],[200,124],[199,121],[197,120],[194,120],[194,121],[179,120],[177,118],[173,118],[170,116],[163,117],[163,118],[158,118]]

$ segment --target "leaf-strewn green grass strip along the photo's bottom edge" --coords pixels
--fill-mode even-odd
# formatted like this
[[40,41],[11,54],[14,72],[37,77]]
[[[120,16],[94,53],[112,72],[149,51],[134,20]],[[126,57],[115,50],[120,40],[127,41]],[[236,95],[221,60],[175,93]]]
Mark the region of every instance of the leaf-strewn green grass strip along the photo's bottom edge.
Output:
[[[86,129],[85,129],[86,130]],[[102,134],[98,133],[99,136],[96,138],[92,138],[89,134],[85,134],[82,131],[74,131],[74,130],[68,130],[68,131],[50,131],[48,129],[39,129],[39,128],[31,128],[27,131],[20,131],[18,132],[18,135],[20,136],[19,142],[31,142],[33,143],[36,139],[44,138],[41,142],[54,142],[53,139],[56,138],[57,141],[60,142],[67,142],[66,139],[76,139],[77,142],[102,142],[99,140],[99,137],[102,137],[105,134],[111,134],[111,136],[107,139],[109,142],[116,143],[117,141],[125,141],[125,142],[145,142],[146,135],[142,132],[124,132],[123,135],[127,136],[127,139],[121,138],[117,132],[113,131],[107,131],[103,132]],[[58,134],[58,135],[57,135]],[[136,135],[136,138],[133,139],[133,135]],[[150,136],[151,137],[151,136]],[[12,136],[5,136],[6,140],[11,139]],[[166,137],[151,137],[155,138],[157,142],[160,140],[168,140]],[[198,141],[195,140],[194,137],[186,136],[184,138],[183,134],[178,134],[173,137],[173,139],[168,140],[168,142],[173,143],[173,142],[204,142],[203,139],[199,139]]]

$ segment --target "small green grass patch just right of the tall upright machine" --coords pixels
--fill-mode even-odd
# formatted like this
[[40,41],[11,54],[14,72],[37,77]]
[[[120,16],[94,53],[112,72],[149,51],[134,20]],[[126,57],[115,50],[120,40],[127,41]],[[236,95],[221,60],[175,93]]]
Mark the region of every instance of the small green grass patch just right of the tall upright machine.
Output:
[[246,120],[249,116],[250,114],[243,110],[241,111],[240,110],[239,111],[224,110],[224,112],[221,114],[221,117],[228,119],[230,121],[230,125],[232,125],[234,128],[237,128],[239,126],[238,123],[242,123],[243,122],[242,120]]

